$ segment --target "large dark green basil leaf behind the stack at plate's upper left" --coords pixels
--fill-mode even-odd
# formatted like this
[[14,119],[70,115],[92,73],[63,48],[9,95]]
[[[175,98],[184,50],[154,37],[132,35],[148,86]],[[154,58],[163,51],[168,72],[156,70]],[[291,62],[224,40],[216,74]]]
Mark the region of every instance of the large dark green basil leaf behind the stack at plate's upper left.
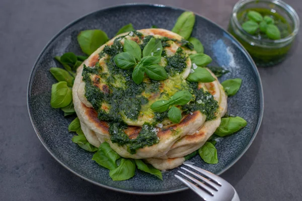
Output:
[[85,54],[91,55],[101,45],[109,40],[107,34],[102,30],[85,30],[78,35],[78,42]]

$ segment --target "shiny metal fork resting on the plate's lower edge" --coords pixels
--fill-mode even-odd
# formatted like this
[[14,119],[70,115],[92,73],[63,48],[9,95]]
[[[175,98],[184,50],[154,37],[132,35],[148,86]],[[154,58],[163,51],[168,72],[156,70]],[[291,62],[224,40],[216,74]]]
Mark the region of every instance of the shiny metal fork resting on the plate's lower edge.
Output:
[[[205,201],[240,201],[239,196],[235,190],[235,188],[228,182],[225,181],[223,178],[196,167],[190,164],[184,164],[198,172],[200,172],[203,176],[185,168],[181,167],[181,169],[189,172],[190,174],[194,175],[198,179],[178,171],[185,177],[192,180],[198,186],[193,184],[192,182],[180,177],[179,175],[175,174],[176,178],[181,180],[184,184],[186,184],[189,188],[191,188],[194,192],[196,192],[203,200]],[[201,180],[201,181],[200,181]]]

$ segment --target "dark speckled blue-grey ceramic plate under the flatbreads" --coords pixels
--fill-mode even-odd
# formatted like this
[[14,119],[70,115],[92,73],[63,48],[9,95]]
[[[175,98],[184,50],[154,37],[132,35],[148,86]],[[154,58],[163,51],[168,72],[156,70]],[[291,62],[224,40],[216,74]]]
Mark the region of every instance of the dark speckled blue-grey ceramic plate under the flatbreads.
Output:
[[[112,181],[108,170],[92,161],[92,153],[71,142],[68,124],[74,117],[63,117],[63,112],[50,107],[51,85],[56,80],[49,68],[56,66],[53,59],[65,52],[81,54],[77,34],[82,30],[101,29],[109,38],[122,26],[132,23],[135,29],[156,25],[171,30],[178,16],[184,12],[163,5],[124,5],[100,10],[72,22],[54,36],[39,55],[28,84],[28,110],[34,129],[49,153],[68,170],[102,187],[137,194],[171,193],[187,189],[174,174],[179,168],[163,173],[163,181],[137,171],[125,181]],[[239,92],[228,99],[228,113],[247,120],[248,125],[235,135],[217,143],[218,164],[204,163],[199,156],[191,159],[196,166],[221,174],[230,168],[253,142],[262,120],[263,91],[259,73],[247,51],[228,32],[211,21],[196,15],[192,36],[198,38],[213,65],[222,66],[230,73],[219,79],[242,78]]]

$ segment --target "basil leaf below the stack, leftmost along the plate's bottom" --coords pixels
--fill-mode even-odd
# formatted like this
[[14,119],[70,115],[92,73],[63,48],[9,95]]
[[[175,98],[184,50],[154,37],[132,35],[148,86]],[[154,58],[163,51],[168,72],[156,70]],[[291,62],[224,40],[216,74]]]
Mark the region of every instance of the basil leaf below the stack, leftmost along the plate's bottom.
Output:
[[119,158],[120,156],[111,149],[108,142],[103,142],[98,151],[93,155],[92,160],[107,169],[113,170],[117,168],[116,160]]

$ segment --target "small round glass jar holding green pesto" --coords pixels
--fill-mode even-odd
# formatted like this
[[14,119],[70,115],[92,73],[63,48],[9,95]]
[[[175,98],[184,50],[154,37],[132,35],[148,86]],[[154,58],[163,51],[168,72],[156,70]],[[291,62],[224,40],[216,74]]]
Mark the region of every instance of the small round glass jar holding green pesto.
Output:
[[[247,10],[265,9],[272,15],[281,16],[290,29],[290,34],[278,40],[253,36],[241,27],[243,13]],[[281,62],[289,51],[298,33],[299,17],[288,4],[280,0],[241,0],[233,9],[228,31],[247,49],[257,66],[271,66]]]

